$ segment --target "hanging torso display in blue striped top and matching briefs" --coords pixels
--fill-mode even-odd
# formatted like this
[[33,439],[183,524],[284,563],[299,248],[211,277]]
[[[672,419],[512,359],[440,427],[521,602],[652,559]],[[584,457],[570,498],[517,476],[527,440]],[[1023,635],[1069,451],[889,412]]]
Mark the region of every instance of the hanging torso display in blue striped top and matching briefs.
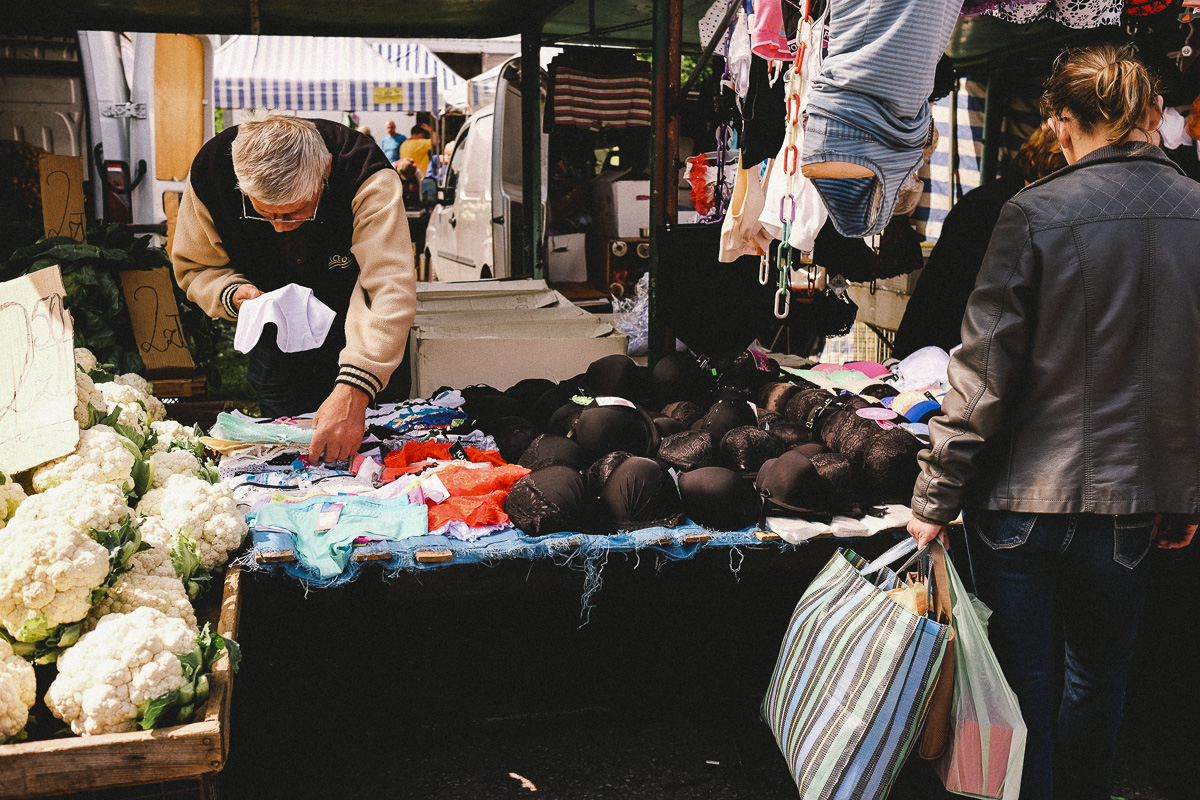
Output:
[[812,83],[800,163],[848,162],[866,178],[816,178],[842,236],[877,234],[922,164],[929,95],[962,0],[830,0],[829,50]]

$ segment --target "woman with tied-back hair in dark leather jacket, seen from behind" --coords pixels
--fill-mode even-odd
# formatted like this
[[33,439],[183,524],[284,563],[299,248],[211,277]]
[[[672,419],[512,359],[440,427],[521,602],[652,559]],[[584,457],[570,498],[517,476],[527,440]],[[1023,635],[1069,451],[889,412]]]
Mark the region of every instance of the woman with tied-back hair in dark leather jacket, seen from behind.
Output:
[[919,456],[908,533],[965,509],[1021,800],[1109,800],[1150,553],[1200,512],[1200,185],[1151,144],[1160,103],[1127,48],[1060,58],[1042,112],[1069,166],[1004,205]]

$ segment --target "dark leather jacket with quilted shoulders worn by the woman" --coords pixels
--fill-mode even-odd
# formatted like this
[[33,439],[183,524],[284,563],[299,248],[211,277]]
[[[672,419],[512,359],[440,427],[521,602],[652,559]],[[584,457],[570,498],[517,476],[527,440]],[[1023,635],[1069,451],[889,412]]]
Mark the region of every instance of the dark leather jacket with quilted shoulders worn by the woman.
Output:
[[912,510],[1200,511],[1200,184],[1102,148],[1001,213]]

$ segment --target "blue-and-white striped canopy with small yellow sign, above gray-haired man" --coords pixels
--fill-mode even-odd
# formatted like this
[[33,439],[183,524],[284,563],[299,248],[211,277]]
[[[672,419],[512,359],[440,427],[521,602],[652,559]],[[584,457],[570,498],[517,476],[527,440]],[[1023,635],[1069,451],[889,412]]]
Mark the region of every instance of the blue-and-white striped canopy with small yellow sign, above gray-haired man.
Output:
[[400,70],[362,38],[234,36],[212,59],[217,108],[432,112],[438,79]]

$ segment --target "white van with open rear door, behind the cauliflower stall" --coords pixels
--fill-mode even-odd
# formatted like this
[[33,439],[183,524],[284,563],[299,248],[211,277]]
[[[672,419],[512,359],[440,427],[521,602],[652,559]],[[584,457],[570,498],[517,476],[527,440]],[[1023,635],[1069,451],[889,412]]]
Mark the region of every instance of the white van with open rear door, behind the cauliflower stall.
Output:
[[209,36],[78,31],[0,46],[0,138],[84,160],[89,212],[167,233],[214,134]]

